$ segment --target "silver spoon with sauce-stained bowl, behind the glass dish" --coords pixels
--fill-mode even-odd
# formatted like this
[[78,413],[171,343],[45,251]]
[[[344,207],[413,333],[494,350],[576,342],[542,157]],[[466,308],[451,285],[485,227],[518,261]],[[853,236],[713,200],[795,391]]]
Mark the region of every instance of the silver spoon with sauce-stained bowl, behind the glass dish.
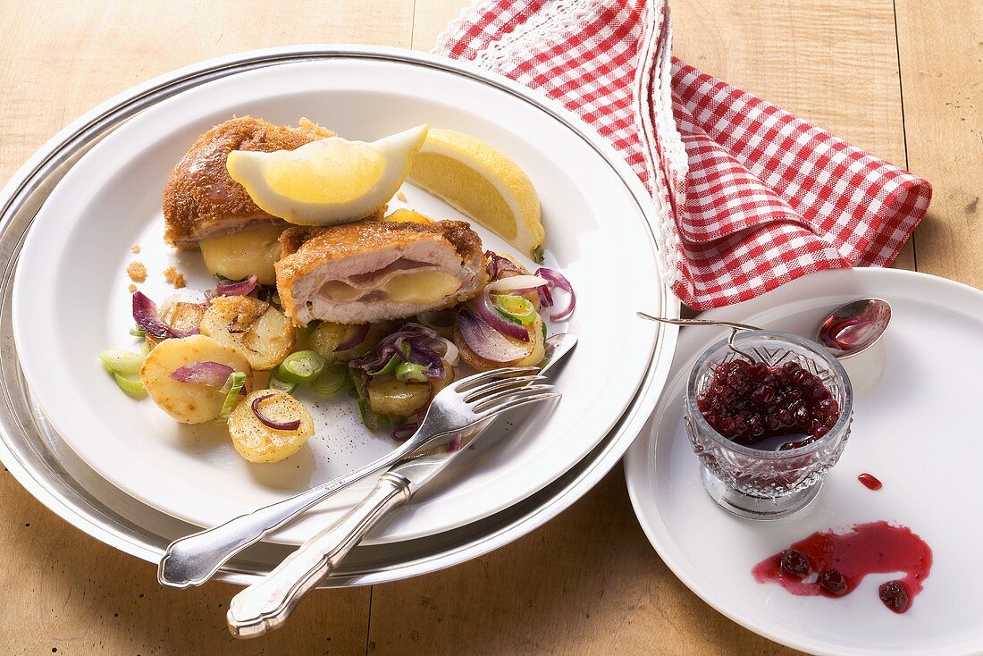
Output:
[[[653,317],[644,312],[636,313],[642,319],[675,326],[722,326],[730,328],[727,345],[741,353],[733,343],[738,330],[760,330],[747,324],[715,322],[708,319],[666,319]],[[842,360],[864,351],[881,338],[891,322],[891,305],[879,298],[861,298],[841,305],[819,325],[816,341],[826,347],[830,354]],[[745,355],[744,353],[741,353]]]

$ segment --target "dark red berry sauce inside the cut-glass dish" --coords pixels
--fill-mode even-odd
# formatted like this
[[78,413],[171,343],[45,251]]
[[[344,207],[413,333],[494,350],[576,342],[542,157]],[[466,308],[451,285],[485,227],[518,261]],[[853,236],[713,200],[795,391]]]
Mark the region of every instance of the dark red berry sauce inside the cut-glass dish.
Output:
[[826,435],[839,419],[833,393],[795,362],[781,367],[724,362],[696,404],[724,438],[767,450],[803,447]]

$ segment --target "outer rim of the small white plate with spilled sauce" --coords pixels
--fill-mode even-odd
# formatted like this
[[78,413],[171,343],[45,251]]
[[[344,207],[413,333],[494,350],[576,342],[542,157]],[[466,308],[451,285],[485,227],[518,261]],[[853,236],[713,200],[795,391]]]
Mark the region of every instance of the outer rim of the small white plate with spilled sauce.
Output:
[[[971,294],[978,297],[981,302],[983,302],[983,290],[977,289],[971,285],[958,282],[956,280],[951,280],[939,275],[932,275],[930,273],[925,273],[921,271],[911,271],[899,268],[836,268],[836,269],[825,269],[821,271],[816,271],[810,273],[803,278],[830,278],[831,287],[837,288],[837,282],[840,278],[844,281],[848,280],[851,276],[860,277],[870,277],[874,280],[883,278],[906,278],[913,281],[913,284],[929,284],[929,285],[939,285],[943,288],[949,288],[958,294]],[[802,279],[802,278],[798,278]],[[792,281],[794,282],[794,281]],[[845,285],[840,285],[845,286]],[[782,288],[787,290],[787,287],[779,287],[774,291],[780,291]],[[742,317],[745,317],[750,312],[762,312],[767,311],[769,307],[774,305],[775,301],[771,301],[769,294],[774,292],[769,292],[763,294],[762,296],[744,301],[742,303],[737,303],[734,305],[726,306],[723,308],[715,308],[713,310],[708,310],[700,315],[701,319],[709,319],[715,321],[741,321]],[[750,311],[746,310],[751,308]],[[685,357],[691,357],[692,354],[683,354],[679,349],[679,344],[677,343],[676,355],[685,355]],[[673,363],[674,365],[675,363]],[[674,374],[675,377],[680,376],[679,372],[670,372]],[[665,382],[665,387],[671,386],[675,378],[667,379]],[[656,550],[656,553],[665,563],[665,566],[678,578],[682,583],[689,588],[689,590],[694,593],[697,597],[706,602],[711,608],[723,615],[723,617],[728,620],[743,626],[755,633],[768,638],[774,642],[782,644],[793,649],[799,649],[811,654],[821,654],[823,656],[837,656],[841,654],[852,654],[855,656],[860,655],[870,655],[870,654],[894,654],[895,651],[889,649],[883,650],[871,650],[867,648],[845,648],[842,645],[834,645],[826,641],[816,640],[812,638],[802,639],[794,636],[788,629],[782,630],[781,627],[765,626],[763,624],[756,623],[754,621],[748,620],[743,617],[739,612],[734,611],[729,606],[723,604],[714,595],[712,586],[706,586],[700,584],[694,576],[690,575],[690,568],[685,567],[685,563],[681,559],[676,558],[676,552],[671,547],[672,536],[668,532],[662,511],[658,508],[657,504],[654,502],[646,502],[644,498],[645,492],[643,490],[646,483],[651,478],[649,473],[651,472],[651,467],[649,466],[648,459],[652,450],[656,447],[658,443],[658,432],[654,430],[652,422],[658,420],[661,410],[663,410],[664,402],[668,402],[665,399],[660,399],[659,403],[653,412],[652,418],[650,419],[650,424],[643,429],[646,431],[646,435],[639,434],[635,442],[628,448],[625,452],[623,458],[623,468],[625,477],[625,486],[628,489],[628,497],[631,500],[632,509],[635,512],[635,516],[638,519],[639,524],[645,533],[646,538],[649,543]],[[976,641],[976,647],[983,645],[983,634]],[[972,648],[970,646],[970,648]],[[952,656],[971,656],[971,654],[976,653],[968,650],[959,650],[959,645],[954,645],[948,649],[942,651],[937,648],[924,651],[904,651],[905,654],[932,654],[933,656],[939,656],[942,654],[952,655]]]

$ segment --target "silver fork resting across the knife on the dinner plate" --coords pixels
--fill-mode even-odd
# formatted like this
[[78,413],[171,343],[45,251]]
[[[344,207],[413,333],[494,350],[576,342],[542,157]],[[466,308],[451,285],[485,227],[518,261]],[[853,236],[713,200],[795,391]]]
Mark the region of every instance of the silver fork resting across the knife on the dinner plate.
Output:
[[230,558],[259,542],[339,490],[416,453],[446,444],[451,438],[502,412],[558,396],[537,367],[507,367],[475,374],[441,389],[434,396],[420,428],[409,440],[361,469],[224,524],[175,540],[168,546],[157,580],[186,588],[201,585]]

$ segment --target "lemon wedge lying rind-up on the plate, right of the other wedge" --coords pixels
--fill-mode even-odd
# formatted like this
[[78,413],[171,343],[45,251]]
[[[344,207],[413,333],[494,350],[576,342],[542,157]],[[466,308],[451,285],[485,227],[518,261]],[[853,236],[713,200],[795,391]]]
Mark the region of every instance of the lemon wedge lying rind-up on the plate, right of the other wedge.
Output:
[[483,141],[434,128],[409,180],[492,230],[527,257],[543,259],[540,200],[518,164]]

